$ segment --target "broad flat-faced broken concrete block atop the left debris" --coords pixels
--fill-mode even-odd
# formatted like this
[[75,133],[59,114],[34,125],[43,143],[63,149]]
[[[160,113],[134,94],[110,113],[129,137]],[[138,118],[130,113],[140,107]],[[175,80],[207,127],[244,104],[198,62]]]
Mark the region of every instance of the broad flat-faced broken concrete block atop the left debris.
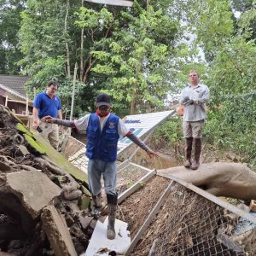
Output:
[[43,172],[13,172],[6,175],[6,186],[20,200],[32,218],[37,218],[61,188],[51,182]]

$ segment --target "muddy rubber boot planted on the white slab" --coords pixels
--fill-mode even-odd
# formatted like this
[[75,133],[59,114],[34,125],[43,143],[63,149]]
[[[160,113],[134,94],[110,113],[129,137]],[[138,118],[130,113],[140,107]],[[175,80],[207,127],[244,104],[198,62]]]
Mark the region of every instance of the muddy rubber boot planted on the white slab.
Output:
[[107,230],[107,238],[113,240],[115,238],[115,215],[116,215],[116,206],[117,206],[117,195],[109,195],[107,194],[108,200],[108,230]]

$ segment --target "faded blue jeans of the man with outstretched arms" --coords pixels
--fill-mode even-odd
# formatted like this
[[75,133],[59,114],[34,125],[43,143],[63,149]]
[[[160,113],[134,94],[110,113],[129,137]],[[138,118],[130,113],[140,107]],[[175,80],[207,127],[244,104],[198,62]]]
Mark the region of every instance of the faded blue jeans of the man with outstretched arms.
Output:
[[116,195],[116,163],[105,162],[99,159],[90,159],[88,162],[88,181],[92,195],[101,192],[101,177],[103,175],[106,194]]

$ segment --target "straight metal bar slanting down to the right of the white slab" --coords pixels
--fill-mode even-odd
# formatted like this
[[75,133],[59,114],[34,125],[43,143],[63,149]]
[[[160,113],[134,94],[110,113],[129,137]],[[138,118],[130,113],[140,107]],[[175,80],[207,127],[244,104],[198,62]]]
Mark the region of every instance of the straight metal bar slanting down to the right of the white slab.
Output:
[[154,208],[152,209],[152,211],[149,213],[148,218],[146,218],[145,222],[143,223],[143,226],[140,228],[140,230],[138,230],[137,235],[133,238],[133,240],[131,241],[131,246],[127,249],[127,251],[125,252],[125,256],[130,255],[130,253],[133,251],[133,249],[136,247],[137,242],[141,239],[141,237],[143,236],[143,233],[145,232],[145,230],[148,229],[149,224],[151,224],[151,221],[153,220],[153,218],[155,217],[156,213],[160,210],[160,207],[164,204],[164,202],[166,201],[166,197],[170,194],[171,189],[173,187],[173,182],[171,181],[171,183],[169,184],[169,186],[167,187],[167,189],[165,190],[165,192],[160,196],[159,201],[157,201],[156,205],[154,206]]

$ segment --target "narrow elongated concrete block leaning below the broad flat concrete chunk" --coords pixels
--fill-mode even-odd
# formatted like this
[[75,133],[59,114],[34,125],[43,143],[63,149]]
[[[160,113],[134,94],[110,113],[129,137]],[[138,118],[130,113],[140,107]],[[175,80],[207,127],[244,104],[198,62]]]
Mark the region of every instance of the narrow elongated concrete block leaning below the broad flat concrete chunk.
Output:
[[45,207],[41,219],[55,256],[76,256],[77,253],[67,224],[56,208],[54,206]]

